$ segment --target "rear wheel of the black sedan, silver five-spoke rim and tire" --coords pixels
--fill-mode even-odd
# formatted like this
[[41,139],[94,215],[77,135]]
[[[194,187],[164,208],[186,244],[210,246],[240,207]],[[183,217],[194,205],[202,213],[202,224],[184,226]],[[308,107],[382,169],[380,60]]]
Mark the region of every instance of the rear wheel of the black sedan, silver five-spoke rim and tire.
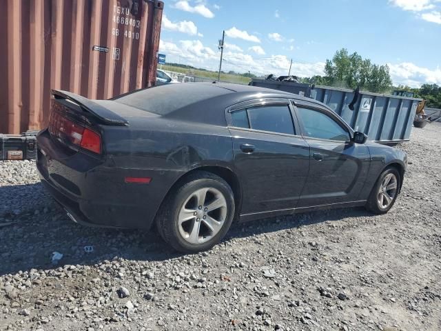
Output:
[[167,194],[156,228],[175,250],[202,252],[223,239],[234,209],[234,193],[228,183],[211,172],[198,171]]

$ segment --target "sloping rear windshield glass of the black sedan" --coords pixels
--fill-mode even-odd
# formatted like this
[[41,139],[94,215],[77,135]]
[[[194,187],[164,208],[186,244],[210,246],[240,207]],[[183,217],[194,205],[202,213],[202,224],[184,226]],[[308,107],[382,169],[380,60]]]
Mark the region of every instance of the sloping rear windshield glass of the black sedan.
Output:
[[123,94],[113,100],[146,112],[166,115],[192,103],[231,92],[209,83],[174,83]]

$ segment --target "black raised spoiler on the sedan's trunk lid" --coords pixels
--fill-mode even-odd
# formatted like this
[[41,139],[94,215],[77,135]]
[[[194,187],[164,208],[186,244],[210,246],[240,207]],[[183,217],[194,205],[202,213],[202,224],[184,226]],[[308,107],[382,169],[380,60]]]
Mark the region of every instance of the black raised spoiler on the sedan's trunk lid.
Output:
[[126,119],[119,116],[119,114],[115,114],[98,103],[95,103],[88,98],[81,97],[79,94],[63,90],[51,90],[51,93],[55,99],[67,99],[76,103],[83,108],[83,110],[90,112],[108,126],[127,126],[129,123]]

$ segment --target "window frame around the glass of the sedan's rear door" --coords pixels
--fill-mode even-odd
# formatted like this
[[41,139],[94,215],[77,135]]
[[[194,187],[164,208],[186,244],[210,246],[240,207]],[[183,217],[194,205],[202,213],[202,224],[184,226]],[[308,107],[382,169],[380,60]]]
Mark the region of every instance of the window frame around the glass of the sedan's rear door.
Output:
[[[238,126],[233,126],[232,124],[232,112],[236,112],[239,110],[247,110],[247,108],[252,107],[259,107],[259,106],[280,106],[285,105],[289,108],[289,111],[291,113],[291,121],[294,126],[294,132],[295,134],[288,134],[288,133],[282,133],[282,132],[274,132],[274,131],[266,131],[266,130],[256,130],[251,128],[251,125],[249,123],[248,119],[248,125],[249,128],[242,128]],[[229,106],[225,108],[225,119],[227,120],[227,127],[232,128],[234,130],[243,130],[248,132],[258,132],[258,133],[265,133],[265,134],[274,134],[278,136],[284,136],[284,137],[297,137],[302,138],[302,135],[300,134],[300,126],[297,121],[296,113],[294,111],[294,108],[292,107],[291,101],[289,99],[285,98],[265,98],[265,99],[255,99],[255,100],[249,100],[249,101],[243,101],[240,103],[236,103],[232,106]]]

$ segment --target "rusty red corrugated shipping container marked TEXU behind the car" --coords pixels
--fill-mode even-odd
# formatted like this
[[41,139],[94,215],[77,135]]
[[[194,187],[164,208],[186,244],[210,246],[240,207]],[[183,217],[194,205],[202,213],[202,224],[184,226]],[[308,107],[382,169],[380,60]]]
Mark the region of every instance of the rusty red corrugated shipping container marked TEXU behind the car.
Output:
[[41,129],[50,89],[90,99],[152,86],[163,2],[0,0],[0,133]]

